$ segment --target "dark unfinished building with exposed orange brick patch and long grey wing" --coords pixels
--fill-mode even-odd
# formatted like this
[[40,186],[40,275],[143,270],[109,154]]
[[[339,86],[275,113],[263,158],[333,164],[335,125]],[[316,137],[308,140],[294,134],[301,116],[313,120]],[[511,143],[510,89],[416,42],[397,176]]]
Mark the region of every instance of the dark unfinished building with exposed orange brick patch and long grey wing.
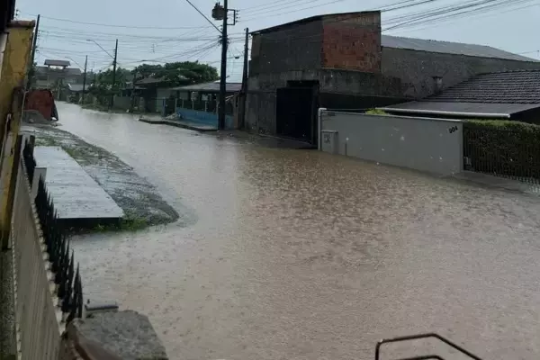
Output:
[[317,143],[317,109],[426,97],[476,74],[540,68],[487,46],[381,34],[378,11],[326,14],[252,32],[248,130]]

